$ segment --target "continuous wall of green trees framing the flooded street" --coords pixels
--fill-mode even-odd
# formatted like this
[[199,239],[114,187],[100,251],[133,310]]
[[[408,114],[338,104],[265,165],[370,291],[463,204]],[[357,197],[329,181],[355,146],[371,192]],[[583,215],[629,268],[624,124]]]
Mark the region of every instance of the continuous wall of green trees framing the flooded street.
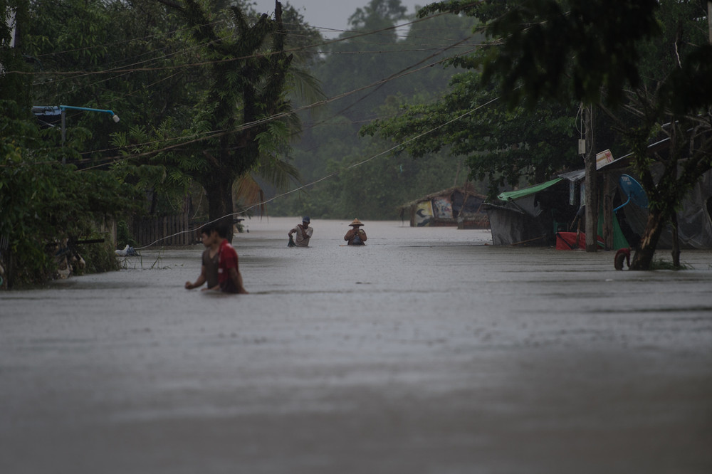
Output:
[[[409,16],[399,0],[371,0],[336,41],[276,6],[268,16],[246,1],[0,0],[21,26],[9,48],[0,25],[0,233],[16,245],[33,231],[79,232],[68,219],[110,215],[135,192],[149,196],[134,200],[144,211],[171,212],[198,184],[209,218],[231,216],[236,179],[246,195],[275,194],[298,173],[317,184],[271,212],[394,218],[466,174],[495,192],[580,167],[581,102],[604,112],[601,143],[634,152],[654,216],[646,248],[710,167],[700,1],[463,0]],[[72,111],[66,127],[40,127],[33,105],[111,109],[121,121]],[[651,154],[659,137],[671,146]],[[26,205],[6,195],[20,175],[45,186],[14,191]],[[105,199],[73,198],[80,182]],[[38,196],[76,207],[48,205],[56,225],[21,230],[45,225]],[[16,217],[35,212],[40,221]]]

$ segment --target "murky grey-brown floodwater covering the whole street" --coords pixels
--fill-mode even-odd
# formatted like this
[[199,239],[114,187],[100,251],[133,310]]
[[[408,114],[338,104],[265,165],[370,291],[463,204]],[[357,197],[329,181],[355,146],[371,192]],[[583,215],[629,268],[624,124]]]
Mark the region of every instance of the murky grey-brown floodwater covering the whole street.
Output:
[[0,472],[712,472],[712,252],[299,221],[236,236],[249,295],[184,290],[200,246],[0,293]]

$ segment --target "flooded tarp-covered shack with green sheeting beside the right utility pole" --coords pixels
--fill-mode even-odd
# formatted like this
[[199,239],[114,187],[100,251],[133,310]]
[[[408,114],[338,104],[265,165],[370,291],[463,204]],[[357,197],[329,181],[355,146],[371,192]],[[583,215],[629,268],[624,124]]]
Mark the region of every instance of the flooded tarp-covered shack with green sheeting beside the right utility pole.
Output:
[[[651,148],[664,146],[664,142]],[[654,163],[652,167],[656,174],[656,168],[662,165]],[[526,189],[503,192],[496,201],[483,204],[494,245],[583,248],[575,223],[585,203],[584,179],[583,169],[564,173]],[[637,174],[630,167],[630,155],[601,162],[597,179],[599,246],[607,250],[636,247],[646,226],[648,209]],[[712,172],[703,174],[686,195],[677,221],[681,248],[712,248]],[[672,232],[668,225],[658,248],[672,248]]]

